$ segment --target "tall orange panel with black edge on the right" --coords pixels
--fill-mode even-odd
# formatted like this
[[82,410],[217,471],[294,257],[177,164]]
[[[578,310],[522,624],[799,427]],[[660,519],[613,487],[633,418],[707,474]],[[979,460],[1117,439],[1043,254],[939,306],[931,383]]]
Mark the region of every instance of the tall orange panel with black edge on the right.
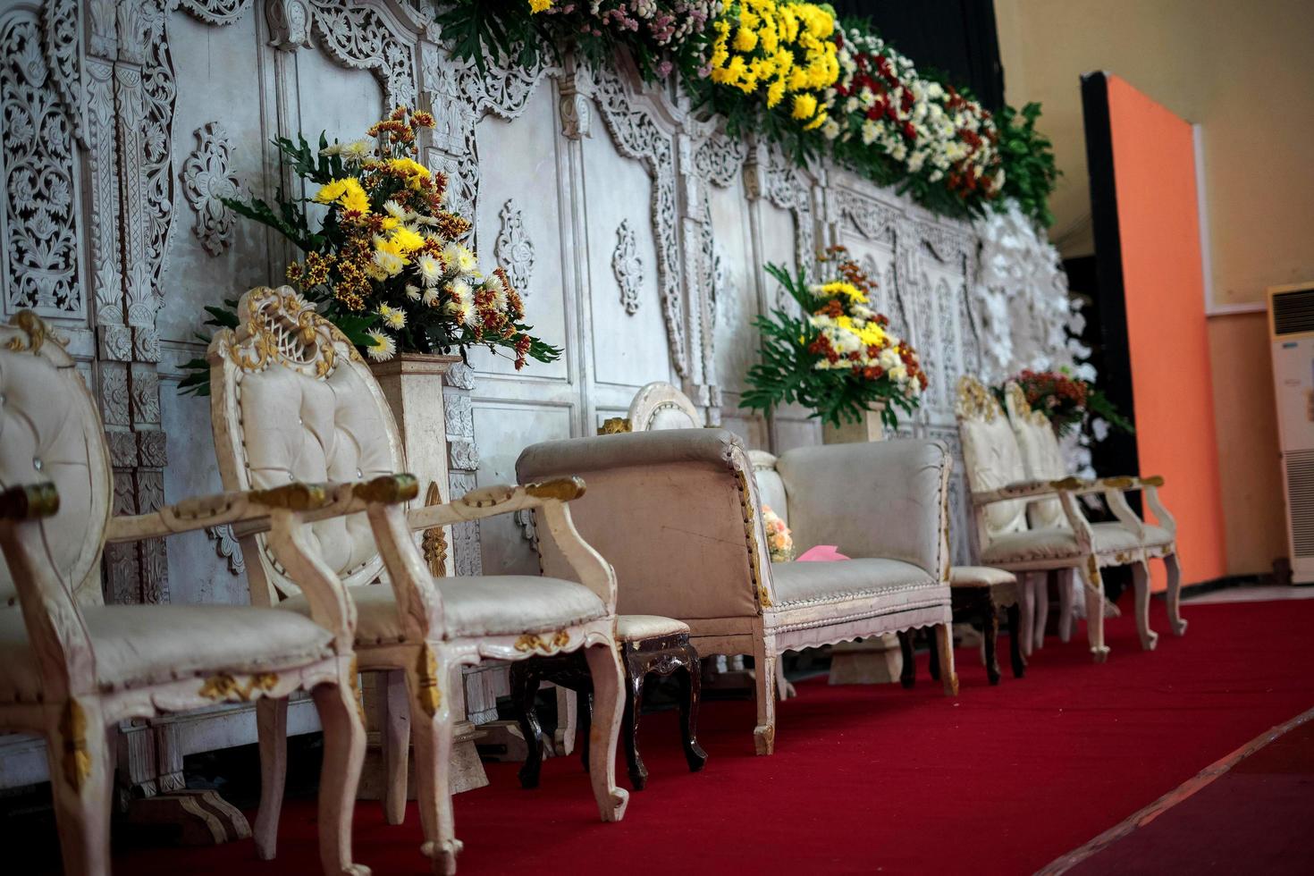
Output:
[[1167,479],[1183,580],[1209,580],[1227,557],[1192,129],[1117,76],[1108,97],[1141,473]]

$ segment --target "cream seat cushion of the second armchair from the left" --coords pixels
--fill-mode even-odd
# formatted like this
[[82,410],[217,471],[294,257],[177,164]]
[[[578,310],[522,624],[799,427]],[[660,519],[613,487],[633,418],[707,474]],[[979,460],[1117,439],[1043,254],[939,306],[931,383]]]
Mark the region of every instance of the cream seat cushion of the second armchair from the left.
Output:
[[[583,584],[533,575],[468,575],[438,578],[443,595],[443,632],[447,638],[549,633],[607,615],[607,607]],[[405,641],[397,598],[386,584],[352,587],[356,603],[356,645],[392,645]],[[281,603],[302,615],[310,604],[301,594]]]

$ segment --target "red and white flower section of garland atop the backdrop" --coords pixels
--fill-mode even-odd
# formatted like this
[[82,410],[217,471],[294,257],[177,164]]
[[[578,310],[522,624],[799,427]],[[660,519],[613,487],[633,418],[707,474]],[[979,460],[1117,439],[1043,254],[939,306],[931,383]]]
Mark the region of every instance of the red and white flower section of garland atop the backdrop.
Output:
[[[999,196],[999,133],[976,101],[925,76],[858,25],[836,34],[840,79],[825,93],[821,133],[836,156],[883,185],[945,211]],[[947,200],[946,200],[947,198]]]

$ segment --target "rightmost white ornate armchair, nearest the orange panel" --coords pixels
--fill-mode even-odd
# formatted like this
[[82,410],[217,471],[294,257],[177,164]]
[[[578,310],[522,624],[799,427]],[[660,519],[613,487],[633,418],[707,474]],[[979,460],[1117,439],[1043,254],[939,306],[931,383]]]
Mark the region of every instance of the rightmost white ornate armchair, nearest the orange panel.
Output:
[[[1017,447],[1022,454],[1022,464],[1028,477],[1033,479],[1062,479],[1068,478],[1070,471],[1063,458],[1063,449],[1059,447],[1058,436],[1050,426],[1049,418],[1041,411],[1033,411],[1026,402],[1026,394],[1017,383],[1008,383],[1004,389],[1004,407],[1008,410],[1008,420],[1017,436]],[[1133,563],[1137,598],[1137,619],[1142,629],[1142,638],[1154,645],[1158,636],[1150,632],[1148,611],[1150,592],[1147,563],[1150,559],[1163,559],[1168,571],[1168,623],[1176,636],[1187,632],[1187,621],[1181,619],[1181,563],[1177,561],[1177,523],[1159,499],[1159,487],[1163,486],[1160,477],[1108,477],[1099,478],[1081,487],[1083,493],[1100,491],[1109,506],[1109,511],[1125,527],[1137,533],[1143,548],[1142,557]],[[1147,524],[1131,506],[1127,504],[1126,494],[1141,490],[1146,504],[1154,514],[1158,525]],[[1028,508],[1028,520],[1033,528],[1067,528],[1067,516],[1059,502],[1054,499],[1041,499],[1033,502]],[[1043,582],[1042,582],[1043,583]],[[1066,583],[1066,582],[1063,582]],[[1060,596],[1071,594],[1071,587],[1059,591]],[[1043,590],[1039,594],[1037,608],[1047,604]],[[1066,617],[1062,625],[1070,623]],[[1037,644],[1045,633],[1043,613],[1037,613],[1038,630]],[[1062,629],[1060,625],[1060,629]]]

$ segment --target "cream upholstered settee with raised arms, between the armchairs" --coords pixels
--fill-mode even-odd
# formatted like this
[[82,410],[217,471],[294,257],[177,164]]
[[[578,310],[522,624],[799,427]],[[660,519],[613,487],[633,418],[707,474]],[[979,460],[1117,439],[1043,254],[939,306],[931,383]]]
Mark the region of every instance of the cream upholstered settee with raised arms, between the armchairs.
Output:
[[[838,544],[855,559],[771,563],[748,450],[725,429],[671,429],[548,441],[516,462],[520,481],[578,473],[579,531],[616,567],[619,608],[685,621],[699,654],[752,654],[757,753],[775,739],[775,663],[784,650],[934,625],[946,693],[946,489],[934,441],[790,450],[778,462],[800,550]],[[773,507],[779,500],[773,498]],[[544,569],[561,567],[543,552]]]

